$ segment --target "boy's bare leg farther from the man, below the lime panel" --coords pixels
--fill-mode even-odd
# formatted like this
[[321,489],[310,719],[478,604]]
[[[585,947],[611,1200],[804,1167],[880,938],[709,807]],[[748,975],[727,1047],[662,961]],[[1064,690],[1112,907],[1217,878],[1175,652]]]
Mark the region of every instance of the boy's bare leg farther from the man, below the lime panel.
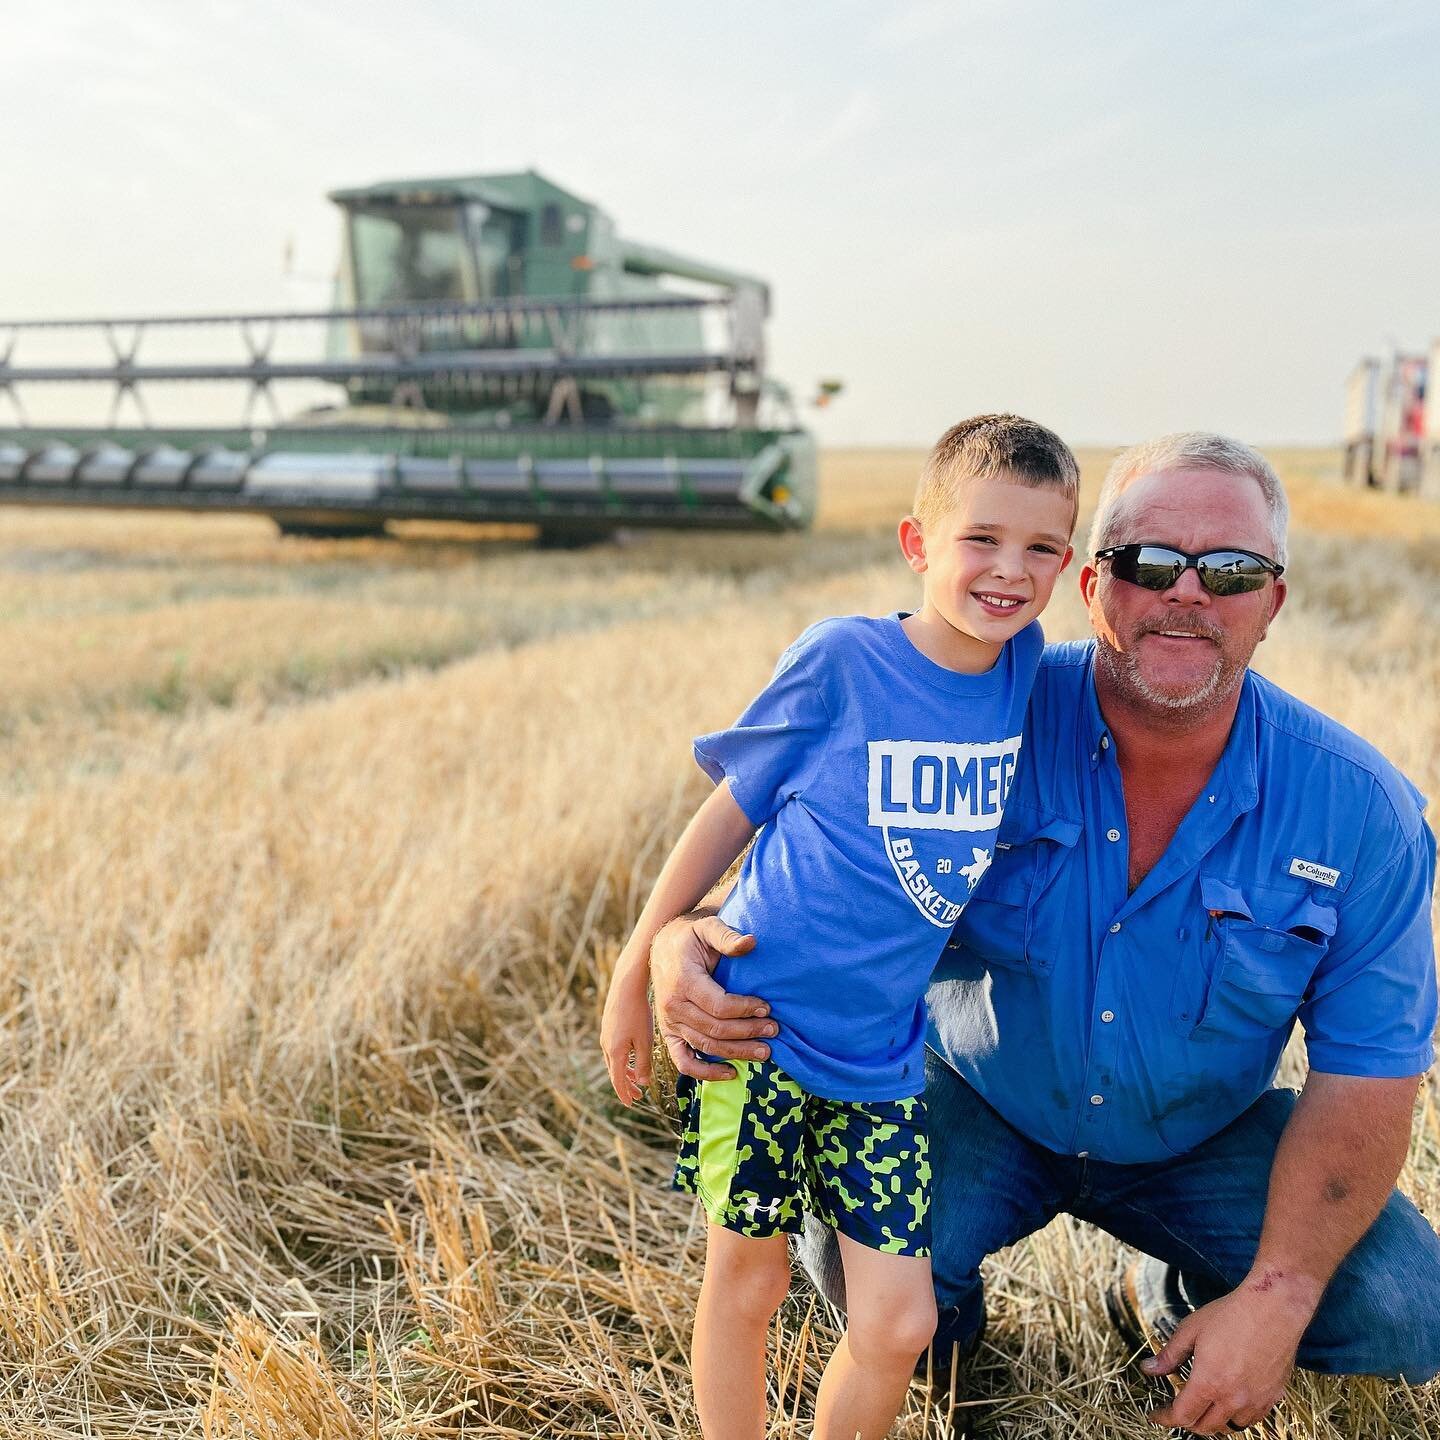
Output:
[[753,1240],[710,1225],[690,1344],[706,1440],[765,1436],[765,1342],[789,1287],[785,1236]]

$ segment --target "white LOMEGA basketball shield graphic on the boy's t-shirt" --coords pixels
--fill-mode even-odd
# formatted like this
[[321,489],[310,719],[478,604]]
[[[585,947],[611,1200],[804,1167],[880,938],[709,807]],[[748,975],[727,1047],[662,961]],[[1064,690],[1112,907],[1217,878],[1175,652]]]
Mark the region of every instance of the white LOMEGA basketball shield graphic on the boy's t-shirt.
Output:
[[[956,831],[994,832],[999,825],[1020,736],[985,744],[871,740],[868,753],[870,824],[883,832],[890,867],[914,907],[949,929],[989,868],[991,851],[972,845],[971,863],[956,867],[940,850],[953,847]],[[952,873],[955,878],[940,880]]]

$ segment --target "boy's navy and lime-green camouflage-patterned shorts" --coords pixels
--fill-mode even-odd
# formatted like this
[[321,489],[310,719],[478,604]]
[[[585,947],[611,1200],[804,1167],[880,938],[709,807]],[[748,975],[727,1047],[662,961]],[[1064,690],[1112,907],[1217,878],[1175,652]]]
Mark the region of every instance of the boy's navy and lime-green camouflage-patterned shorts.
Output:
[[742,1236],[799,1234],[806,1210],[891,1254],[930,1253],[924,1100],[827,1100],[770,1060],[734,1080],[680,1076],[675,1188]]

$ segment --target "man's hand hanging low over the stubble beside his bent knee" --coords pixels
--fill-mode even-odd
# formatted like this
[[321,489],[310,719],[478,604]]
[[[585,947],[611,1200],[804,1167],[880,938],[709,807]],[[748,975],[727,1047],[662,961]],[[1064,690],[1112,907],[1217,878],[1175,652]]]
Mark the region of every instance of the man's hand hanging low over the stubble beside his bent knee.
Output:
[[1263,1284],[1251,1276],[1238,1290],[1201,1306],[1175,1326],[1159,1355],[1140,1362],[1149,1375],[1171,1375],[1191,1361],[1179,1394],[1148,1416],[1153,1424],[1225,1434],[1274,1408],[1319,1296],[1296,1295],[1283,1283]]

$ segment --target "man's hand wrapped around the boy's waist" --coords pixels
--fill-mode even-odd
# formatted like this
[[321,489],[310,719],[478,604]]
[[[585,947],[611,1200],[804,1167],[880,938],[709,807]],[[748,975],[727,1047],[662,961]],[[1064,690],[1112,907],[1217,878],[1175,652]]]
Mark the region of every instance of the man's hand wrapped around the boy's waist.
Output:
[[770,1007],[757,995],[730,995],[711,972],[721,955],[744,955],[755,949],[753,935],[740,935],[713,914],[671,920],[649,950],[649,981],[655,992],[655,1017],[675,1068],[696,1080],[732,1080],[730,1066],[711,1064],[696,1056],[703,1050],[730,1060],[765,1060],[770,1047],[757,1037],[773,1035],[779,1027],[769,1020]]

